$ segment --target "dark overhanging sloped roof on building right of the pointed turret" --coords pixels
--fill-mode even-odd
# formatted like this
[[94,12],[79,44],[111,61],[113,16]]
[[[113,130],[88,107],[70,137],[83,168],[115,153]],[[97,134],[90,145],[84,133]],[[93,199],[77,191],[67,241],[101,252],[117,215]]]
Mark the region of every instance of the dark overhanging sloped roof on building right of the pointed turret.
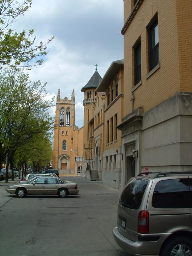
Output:
[[123,66],[124,60],[116,60],[113,61],[106,73],[104,74],[104,77],[100,81],[100,84],[98,85],[96,92],[105,92],[108,82],[114,76],[115,72],[118,70],[120,66]]

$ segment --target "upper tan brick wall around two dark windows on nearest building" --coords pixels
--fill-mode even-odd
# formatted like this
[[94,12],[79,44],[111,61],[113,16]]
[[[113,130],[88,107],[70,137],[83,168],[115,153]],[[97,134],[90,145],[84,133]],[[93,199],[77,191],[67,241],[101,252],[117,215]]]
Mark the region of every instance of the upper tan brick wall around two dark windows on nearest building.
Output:
[[[182,0],[177,1],[185,2]],[[179,77],[179,68],[181,68],[181,60],[184,62],[184,57],[179,57],[180,53],[178,54],[181,47],[180,42],[178,42],[176,18],[177,12],[179,11],[177,10],[178,7],[176,8],[177,1],[144,0],[124,34],[124,116],[129,114],[132,110],[132,103],[130,101],[131,91],[134,87],[132,79],[132,46],[139,36],[141,37],[142,84],[134,91],[134,108],[143,106],[145,112],[174,95],[176,92],[187,89],[187,87],[184,88],[184,86],[181,86],[180,79],[182,79],[182,77]],[[130,0],[124,0],[124,2],[126,5],[130,3]],[[150,20],[154,17],[156,12],[158,12],[160,68],[146,79],[146,74],[148,73],[146,26],[150,23]],[[179,13],[181,14],[183,11]],[[180,21],[182,27],[184,27],[184,23]],[[188,32],[188,34],[190,33]],[[182,36],[184,37],[184,32],[179,32],[179,35],[181,38]],[[188,38],[190,37],[191,35],[188,36]],[[184,39],[182,40],[184,41]],[[188,50],[190,50],[190,42],[187,41],[186,44],[189,44]],[[185,53],[187,54],[187,50],[185,50]],[[191,59],[188,58],[188,62],[190,60]],[[186,66],[188,66],[188,64],[186,64]],[[182,74],[185,78],[188,78],[185,82],[189,82],[191,78],[190,75],[186,76],[183,71]],[[184,79],[182,80],[184,81]]]

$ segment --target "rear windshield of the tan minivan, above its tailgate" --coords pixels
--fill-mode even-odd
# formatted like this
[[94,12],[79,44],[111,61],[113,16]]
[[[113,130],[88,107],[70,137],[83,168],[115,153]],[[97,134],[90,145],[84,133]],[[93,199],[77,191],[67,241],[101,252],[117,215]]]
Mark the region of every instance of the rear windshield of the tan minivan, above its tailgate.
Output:
[[132,179],[124,188],[119,203],[127,208],[137,210],[142,202],[148,181]]

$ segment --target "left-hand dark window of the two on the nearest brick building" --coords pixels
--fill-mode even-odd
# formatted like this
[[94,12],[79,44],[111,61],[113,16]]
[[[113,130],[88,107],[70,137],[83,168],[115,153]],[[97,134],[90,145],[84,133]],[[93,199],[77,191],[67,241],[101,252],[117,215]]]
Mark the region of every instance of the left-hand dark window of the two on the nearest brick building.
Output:
[[134,47],[134,85],[141,80],[141,41]]

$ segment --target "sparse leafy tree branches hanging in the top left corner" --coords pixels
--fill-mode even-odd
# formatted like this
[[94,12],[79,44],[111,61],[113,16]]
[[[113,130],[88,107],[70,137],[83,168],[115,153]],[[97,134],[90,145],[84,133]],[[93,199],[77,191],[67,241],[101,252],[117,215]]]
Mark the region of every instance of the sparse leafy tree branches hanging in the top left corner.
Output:
[[[32,66],[41,65],[43,60],[40,56],[47,54],[46,49],[48,44],[54,38],[52,36],[48,42],[40,42],[35,46],[36,37],[33,37],[34,30],[29,30],[26,33],[15,32],[10,29],[13,22],[18,16],[30,8],[32,0],[0,0],[0,68],[23,68],[30,69]],[[33,60],[35,60],[33,62]]]

